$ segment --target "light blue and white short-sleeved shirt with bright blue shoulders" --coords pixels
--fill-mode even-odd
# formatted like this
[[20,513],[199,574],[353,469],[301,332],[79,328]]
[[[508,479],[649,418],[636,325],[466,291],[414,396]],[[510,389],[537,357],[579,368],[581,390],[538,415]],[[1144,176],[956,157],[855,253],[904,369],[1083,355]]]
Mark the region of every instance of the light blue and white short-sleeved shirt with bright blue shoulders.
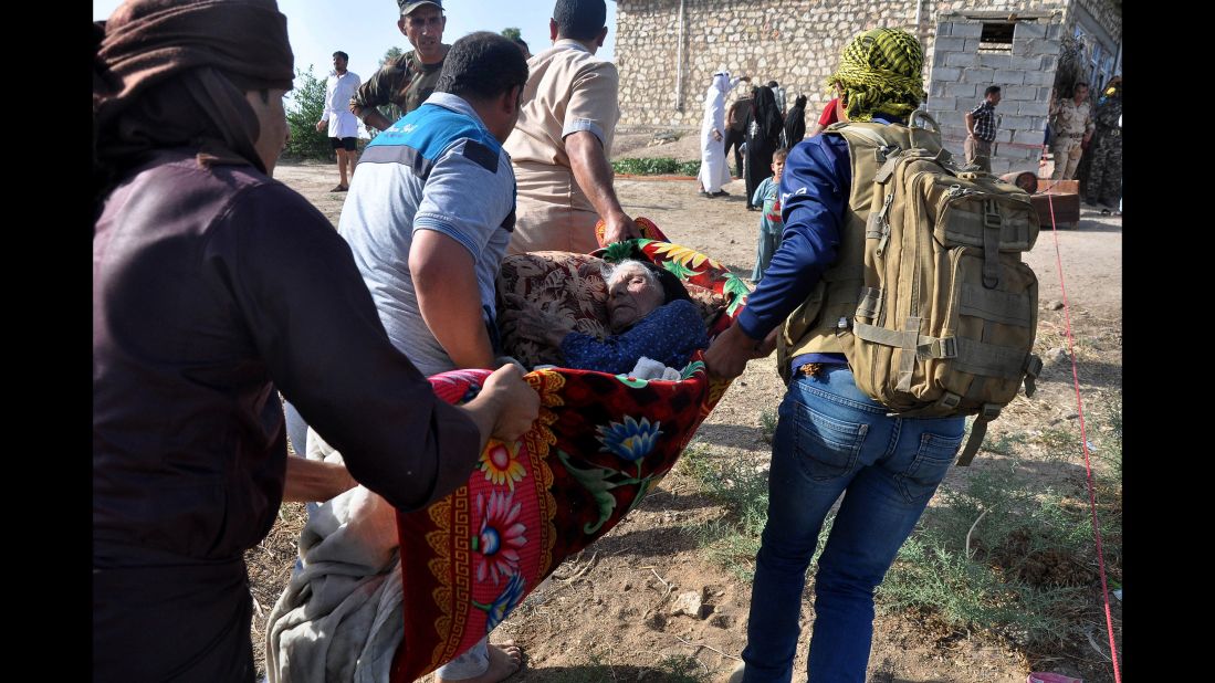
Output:
[[454,363],[418,307],[409,275],[414,233],[434,230],[468,249],[492,331],[493,281],[514,225],[510,157],[467,101],[435,92],[367,146],[338,231],[354,252],[389,339],[423,374],[435,374]]

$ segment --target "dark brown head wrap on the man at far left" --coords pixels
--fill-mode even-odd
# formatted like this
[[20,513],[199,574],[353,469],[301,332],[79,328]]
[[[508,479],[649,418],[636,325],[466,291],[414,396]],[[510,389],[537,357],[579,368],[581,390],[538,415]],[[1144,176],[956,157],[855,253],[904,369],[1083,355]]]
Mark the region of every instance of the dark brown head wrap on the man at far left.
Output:
[[287,17],[275,0],[129,0],[95,24],[94,39],[96,190],[158,147],[191,145],[204,165],[266,170],[244,91],[292,88]]

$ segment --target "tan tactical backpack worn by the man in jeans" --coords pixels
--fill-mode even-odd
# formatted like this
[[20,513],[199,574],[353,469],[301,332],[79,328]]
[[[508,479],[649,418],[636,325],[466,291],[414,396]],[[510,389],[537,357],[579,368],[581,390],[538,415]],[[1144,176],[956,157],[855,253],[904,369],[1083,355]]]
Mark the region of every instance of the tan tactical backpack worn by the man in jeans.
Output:
[[1023,190],[954,165],[937,131],[872,123],[829,131],[848,141],[854,169],[858,154],[877,166],[871,192],[853,194],[872,196],[864,286],[855,315],[835,322],[836,339],[857,386],[893,414],[977,416],[957,459],[967,465],[987,423],[1022,382],[1033,395],[1042,367],[1032,352],[1038,278],[1021,260],[1038,238],[1038,214]]

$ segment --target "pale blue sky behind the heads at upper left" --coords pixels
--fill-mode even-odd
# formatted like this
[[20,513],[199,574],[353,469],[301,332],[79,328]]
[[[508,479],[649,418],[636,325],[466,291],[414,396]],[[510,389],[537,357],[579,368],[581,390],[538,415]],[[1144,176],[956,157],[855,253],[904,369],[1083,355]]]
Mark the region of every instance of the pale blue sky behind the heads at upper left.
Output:
[[[94,0],[92,18],[104,19],[120,0]],[[363,80],[379,67],[389,47],[409,50],[409,41],[396,28],[400,10],[394,0],[278,0],[287,15],[287,30],[295,52],[295,67],[323,79],[333,69],[333,52],[350,55],[350,70]],[[548,19],[553,0],[447,0],[445,43],[474,30],[501,32],[519,28],[532,53],[552,43]],[[615,52],[616,2],[608,2],[608,40],[598,56],[612,60]]]

